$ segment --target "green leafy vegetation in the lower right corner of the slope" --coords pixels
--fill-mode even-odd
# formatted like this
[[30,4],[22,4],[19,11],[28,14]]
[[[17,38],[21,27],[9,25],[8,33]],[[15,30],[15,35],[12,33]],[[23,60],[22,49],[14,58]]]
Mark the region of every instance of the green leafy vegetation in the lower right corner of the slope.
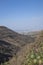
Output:
[[43,65],[43,43],[38,43],[38,45],[38,47],[33,46],[27,53],[22,65]]

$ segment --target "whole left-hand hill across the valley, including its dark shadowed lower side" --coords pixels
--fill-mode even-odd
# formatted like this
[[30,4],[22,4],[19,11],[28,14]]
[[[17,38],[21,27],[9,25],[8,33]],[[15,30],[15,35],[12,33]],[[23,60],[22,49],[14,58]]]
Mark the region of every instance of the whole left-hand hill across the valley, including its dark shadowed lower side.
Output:
[[22,35],[0,26],[0,63],[9,60],[9,57],[16,55],[23,46],[34,41],[30,35]]

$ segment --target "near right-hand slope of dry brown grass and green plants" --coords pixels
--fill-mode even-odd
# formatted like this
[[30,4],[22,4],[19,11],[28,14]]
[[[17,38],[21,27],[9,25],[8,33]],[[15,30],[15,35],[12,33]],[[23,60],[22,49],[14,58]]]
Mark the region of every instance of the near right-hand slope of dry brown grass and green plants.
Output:
[[43,31],[35,43],[25,45],[21,51],[4,65],[43,65]]

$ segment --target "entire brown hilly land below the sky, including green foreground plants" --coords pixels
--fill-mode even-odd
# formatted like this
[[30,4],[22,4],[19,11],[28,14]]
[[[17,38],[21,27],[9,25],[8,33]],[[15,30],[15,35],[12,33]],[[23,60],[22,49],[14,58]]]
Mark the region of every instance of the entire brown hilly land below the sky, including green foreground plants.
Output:
[[43,65],[43,30],[24,35],[0,26],[0,65]]

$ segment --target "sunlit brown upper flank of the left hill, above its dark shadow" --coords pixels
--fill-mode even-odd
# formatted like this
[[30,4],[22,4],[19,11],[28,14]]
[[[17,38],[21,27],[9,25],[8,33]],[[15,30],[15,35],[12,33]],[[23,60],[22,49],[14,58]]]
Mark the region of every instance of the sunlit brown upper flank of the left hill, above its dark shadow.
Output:
[[19,34],[4,26],[0,26],[0,39],[18,46],[34,41],[31,36]]

